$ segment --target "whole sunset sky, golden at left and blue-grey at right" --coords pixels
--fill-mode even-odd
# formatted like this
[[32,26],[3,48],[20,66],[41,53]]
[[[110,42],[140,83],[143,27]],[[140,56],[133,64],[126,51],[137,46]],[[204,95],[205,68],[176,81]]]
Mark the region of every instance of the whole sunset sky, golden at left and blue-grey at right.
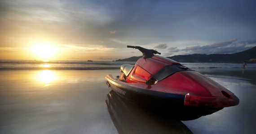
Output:
[[256,46],[255,0],[0,0],[0,59],[112,61]]

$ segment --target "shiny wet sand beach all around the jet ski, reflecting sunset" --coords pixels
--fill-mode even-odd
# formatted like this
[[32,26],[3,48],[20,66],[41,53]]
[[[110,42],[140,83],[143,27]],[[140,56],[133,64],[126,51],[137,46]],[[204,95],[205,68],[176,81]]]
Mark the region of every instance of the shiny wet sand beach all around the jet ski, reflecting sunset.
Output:
[[111,94],[105,76],[119,70],[0,71],[0,134],[254,134],[256,71],[197,71],[233,92],[240,104],[176,121]]

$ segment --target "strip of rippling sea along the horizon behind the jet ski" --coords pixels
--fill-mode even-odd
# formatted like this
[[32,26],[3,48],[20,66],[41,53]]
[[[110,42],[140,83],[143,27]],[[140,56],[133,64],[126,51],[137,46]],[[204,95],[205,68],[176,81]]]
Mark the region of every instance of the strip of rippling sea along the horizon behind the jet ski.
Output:
[[[106,70],[119,69],[122,64],[136,62],[115,61],[64,61],[64,60],[0,60],[0,70]],[[181,63],[190,69],[197,68],[243,68],[243,63]],[[247,64],[256,68],[256,64]]]

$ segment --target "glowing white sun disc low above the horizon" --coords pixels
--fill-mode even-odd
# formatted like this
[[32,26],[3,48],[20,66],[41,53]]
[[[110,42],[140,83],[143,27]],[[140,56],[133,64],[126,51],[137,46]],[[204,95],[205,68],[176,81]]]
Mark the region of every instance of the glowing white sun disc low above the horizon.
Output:
[[32,50],[41,58],[50,58],[56,53],[55,47],[51,46],[49,43],[42,42],[36,43],[35,46],[32,47]]

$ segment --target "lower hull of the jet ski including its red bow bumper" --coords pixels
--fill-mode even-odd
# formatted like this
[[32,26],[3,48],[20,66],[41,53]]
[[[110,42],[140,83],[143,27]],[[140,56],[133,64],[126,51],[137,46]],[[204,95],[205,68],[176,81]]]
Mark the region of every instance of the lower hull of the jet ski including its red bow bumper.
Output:
[[112,88],[119,96],[143,108],[175,110],[203,116],[215,113],[224,107],[239,104],[239,99],[235,95],[202,97],[159,92],[150,90],[150,85],[125,83],[113,78],[112,75],[106,75],[105,78],[108,87]]

